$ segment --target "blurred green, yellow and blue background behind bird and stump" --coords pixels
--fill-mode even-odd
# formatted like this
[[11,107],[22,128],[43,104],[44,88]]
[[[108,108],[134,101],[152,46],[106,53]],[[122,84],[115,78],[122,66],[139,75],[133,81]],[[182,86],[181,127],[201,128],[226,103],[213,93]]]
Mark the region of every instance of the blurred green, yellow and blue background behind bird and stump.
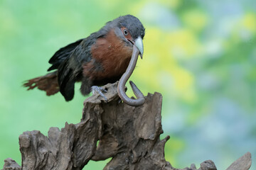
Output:
[[47,135],[50,127],[81,118],[80,84],[67,103],[60,94],[26,91],[23,81],[46,74],[60,47],[125,14],[146,28],[144,59],[131,79],[144,94],[163,95],[161,137],[171,136],[166,159],[176,168],[212,159],[226,169],[251,152],[255,169],[255,0],[1,0],[0,169],[7,157],[21,164],[23,131]]

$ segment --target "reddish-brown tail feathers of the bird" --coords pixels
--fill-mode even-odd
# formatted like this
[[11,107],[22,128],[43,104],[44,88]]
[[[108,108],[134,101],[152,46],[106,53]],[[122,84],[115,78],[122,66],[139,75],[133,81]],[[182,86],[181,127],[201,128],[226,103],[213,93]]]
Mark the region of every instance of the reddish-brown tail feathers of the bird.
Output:
[[60,91],[58,86],[57,72],[51,72],[45,76],[30,79],[26,81],[23,86],[28,87],[28,90],[37,87],[42,91],[46,91],[47,96],[56,94],[58,91]]

